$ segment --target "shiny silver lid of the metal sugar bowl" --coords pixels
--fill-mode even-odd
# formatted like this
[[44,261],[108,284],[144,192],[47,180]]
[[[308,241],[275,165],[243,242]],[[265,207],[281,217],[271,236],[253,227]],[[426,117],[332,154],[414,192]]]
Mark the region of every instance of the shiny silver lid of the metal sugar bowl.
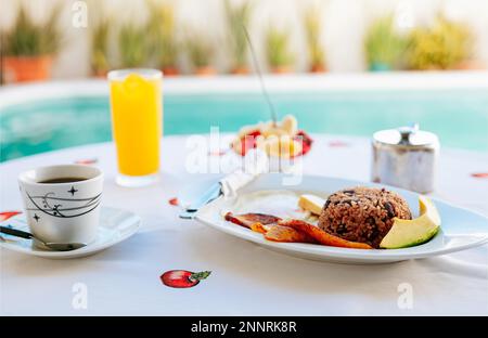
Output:
[[375,142],[401,147],[437,147],[439,139],[433,132],[419,130],[419,123],[410,127],[381,130],[373,134]]

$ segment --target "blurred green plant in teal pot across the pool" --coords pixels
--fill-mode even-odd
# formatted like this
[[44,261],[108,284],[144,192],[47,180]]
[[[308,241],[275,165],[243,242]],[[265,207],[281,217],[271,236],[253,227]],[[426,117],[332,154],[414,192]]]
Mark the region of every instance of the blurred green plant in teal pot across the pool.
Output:
[[393,15],[376,18],[368,28],[364,50],[369,69],[384,72],[393,69],[400,62],[408,46],[408,39],[395,29]]

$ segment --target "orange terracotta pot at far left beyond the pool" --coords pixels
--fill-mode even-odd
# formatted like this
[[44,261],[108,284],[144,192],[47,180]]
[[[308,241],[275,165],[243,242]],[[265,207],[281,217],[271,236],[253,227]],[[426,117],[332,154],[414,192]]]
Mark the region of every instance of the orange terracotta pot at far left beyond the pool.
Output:
[[42,81],[51,77],[52,57],[5,56],[4,77],[8,82]]

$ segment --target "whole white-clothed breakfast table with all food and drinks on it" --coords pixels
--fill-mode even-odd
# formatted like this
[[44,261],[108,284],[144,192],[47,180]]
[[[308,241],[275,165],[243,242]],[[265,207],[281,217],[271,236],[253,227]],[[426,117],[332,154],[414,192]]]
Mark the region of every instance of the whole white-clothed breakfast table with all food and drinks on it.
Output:
[[416,123],[163,136],[108,73],[113,142],[0,164],[1,315],[487,315],[488,154]]

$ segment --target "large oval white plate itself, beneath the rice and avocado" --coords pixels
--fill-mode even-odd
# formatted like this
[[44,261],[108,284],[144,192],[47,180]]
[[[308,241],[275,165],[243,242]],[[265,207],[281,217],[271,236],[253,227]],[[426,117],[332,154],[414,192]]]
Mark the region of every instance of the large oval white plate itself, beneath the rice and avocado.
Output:
[[[434,199],[434,203],[436,204],[442,219],[441,231],[428,243],[404,249],[361,250],[303,243],[274,243],[265,239],[259,233],[255,233],[248,229],[223,220],[222,214],[227,211],[233,211],[235,213],[251,211],[271,213],[275,211],[275,213],[280,213],[284,212],[285,205],[290,206],[287,207],[288,209],[293,208],[293,210],[296,209],[294,202],[296,199],[293,198],[293,195],[287,197],[287,195],[281,195],[281,193],[278,193],[274,197],[280,196],[279,200],[282,203],[271,205],[270,202],[277,200],[278,198],[273,198],[273,196],[269,194],[268,196],[265,194],[258,198],[256,192],[259,191],[274,192],[271,194],[277,194],[278,191],[287,191],[285,192],[286,194],[296,194],[296,196],[300,193],[309,192],[326,196],[335,191],[357,185],[385,186],[388,190],[396,191],[407,199],[414,217],[418,216],[419,195],[409,191],[374,183],[313,176],[304,176],[301,183],[298,185],[284,186],[282,184],[283,178],[283,174],[261,176],[248,186],[240,191],[236,198],[230,199],[220,197],[219,199],[216,199],[202,208],[196,216],[196,220],[224,233],[257,243],[275,251],[307,259],[339,263],[371,264],[426,258],[468,249],[488,242],[487,218],[473,211],[454,207],[438,199]],[[252,196],[253,198],[247,198],[246,196]]]

